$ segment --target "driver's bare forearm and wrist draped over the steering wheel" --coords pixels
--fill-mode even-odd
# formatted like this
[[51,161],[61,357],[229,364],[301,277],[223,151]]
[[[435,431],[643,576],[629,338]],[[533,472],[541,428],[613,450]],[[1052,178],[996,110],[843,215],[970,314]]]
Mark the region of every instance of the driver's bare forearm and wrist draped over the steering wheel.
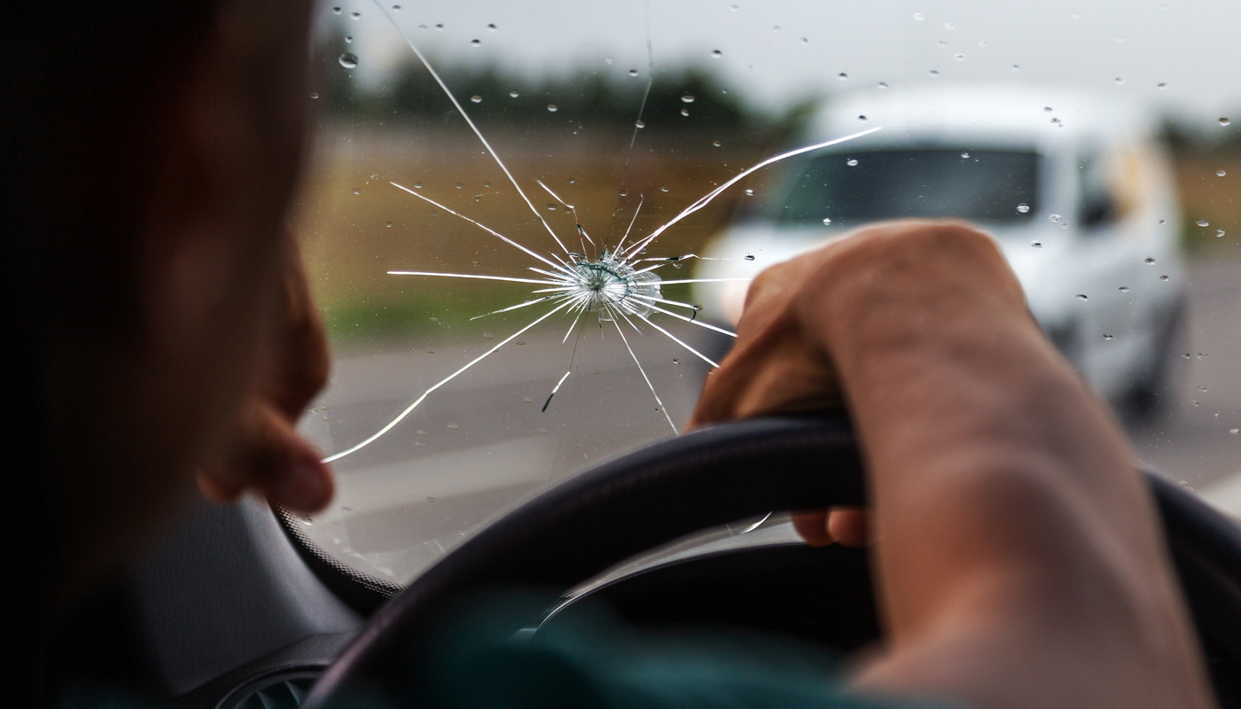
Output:
[[843,251],[802,305],[871,471],[894,652],[862,682],[993,707],[1210,705],[1124,438],[998,251],[953,228],[882,247]]

